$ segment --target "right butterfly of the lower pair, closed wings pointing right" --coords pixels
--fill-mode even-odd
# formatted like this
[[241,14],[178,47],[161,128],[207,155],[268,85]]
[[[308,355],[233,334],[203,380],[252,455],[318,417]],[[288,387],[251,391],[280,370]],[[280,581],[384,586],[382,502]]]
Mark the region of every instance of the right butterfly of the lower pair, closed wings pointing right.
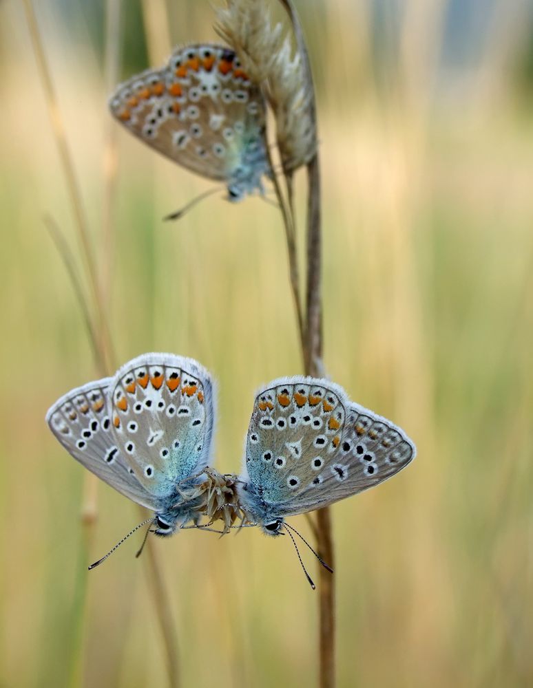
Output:
[[249,522],[279,535],[284,517],[379,485],[415,454],[404,431],[351,402],[342,387],[280,378],[255,398],[239,504]]

